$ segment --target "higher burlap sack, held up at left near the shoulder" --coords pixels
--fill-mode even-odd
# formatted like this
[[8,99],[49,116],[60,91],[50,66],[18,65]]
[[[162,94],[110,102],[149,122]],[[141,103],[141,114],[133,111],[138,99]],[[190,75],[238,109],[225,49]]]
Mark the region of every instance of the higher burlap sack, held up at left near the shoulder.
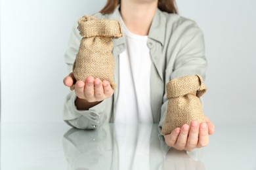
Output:
[[75,80],[84,81],[88,76],[93,76],[107,80],[114,89],[112,39],[122,36],[121,24],[117,20],[83,16],[78,20],[77,29],[83,38],[73,65]]

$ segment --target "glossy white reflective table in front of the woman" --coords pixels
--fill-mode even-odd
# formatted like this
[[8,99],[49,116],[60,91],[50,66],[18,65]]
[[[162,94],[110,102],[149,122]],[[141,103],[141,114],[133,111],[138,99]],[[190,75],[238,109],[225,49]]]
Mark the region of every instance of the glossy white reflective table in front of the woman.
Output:
[[186,153],[169,149],[156,124],[1,123],[1,170],[256,169],[255,130],[216,126],[209,146]]

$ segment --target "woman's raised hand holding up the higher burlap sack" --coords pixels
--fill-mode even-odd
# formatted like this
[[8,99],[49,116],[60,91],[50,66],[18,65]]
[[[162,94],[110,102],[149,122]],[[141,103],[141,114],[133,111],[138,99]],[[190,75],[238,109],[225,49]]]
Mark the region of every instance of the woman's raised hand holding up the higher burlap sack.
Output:
[[110,82],[101,81],[99,78],[93,78],[93,76],[89,76],[83,82],[81,80],[76,81],[73,73],[70,73],[63,79],[63,82],[65,86],[74,86],[75,95],[77,95],[75,105],[79,110],[88,110],[104,99],[111,97],[114,93]]

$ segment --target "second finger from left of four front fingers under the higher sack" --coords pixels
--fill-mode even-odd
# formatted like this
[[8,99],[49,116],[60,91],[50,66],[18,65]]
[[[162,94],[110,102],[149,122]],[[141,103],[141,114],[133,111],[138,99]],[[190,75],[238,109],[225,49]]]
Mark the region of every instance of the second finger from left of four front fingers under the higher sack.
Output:
[[89,76],[85,80],[85,99],[89,102],[95,101],[95,78],[93,76]]

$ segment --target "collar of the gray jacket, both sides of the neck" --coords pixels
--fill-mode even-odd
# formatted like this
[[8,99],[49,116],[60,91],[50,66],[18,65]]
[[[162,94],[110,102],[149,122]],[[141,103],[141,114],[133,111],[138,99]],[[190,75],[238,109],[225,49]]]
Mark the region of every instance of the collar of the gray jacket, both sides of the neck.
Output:
[[[121,15],[119,12],[120,5],[117,5],[116,9],[112,14],[108,14],[106,18],[110,20],[119,20],[121,21]],[[152,20],[152,24],[150,25],[150,31],[148,33],[148,37],[150,39],[154,39],[155,41],[158,41],[163,46],[163,43],[165,41],[165,19],[162,17],[162,12],[160,9],[156,10],[156,14]],[[115,41],[116,45],[125,43],[124,37],[120,37],[119,39],[116,39]]]

